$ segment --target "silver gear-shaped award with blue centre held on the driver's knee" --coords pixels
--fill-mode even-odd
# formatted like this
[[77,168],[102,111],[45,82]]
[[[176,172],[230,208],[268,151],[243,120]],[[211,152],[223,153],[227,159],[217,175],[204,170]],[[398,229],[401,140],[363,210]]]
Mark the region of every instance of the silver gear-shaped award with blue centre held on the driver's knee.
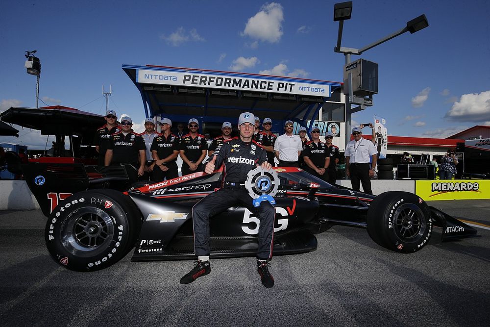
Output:
[[262,201],[275,204],[274,195],[279,188],[279,177],[275,170],[257,167],[248,172],[245,188],[253,200],[253,206],[258,207]]

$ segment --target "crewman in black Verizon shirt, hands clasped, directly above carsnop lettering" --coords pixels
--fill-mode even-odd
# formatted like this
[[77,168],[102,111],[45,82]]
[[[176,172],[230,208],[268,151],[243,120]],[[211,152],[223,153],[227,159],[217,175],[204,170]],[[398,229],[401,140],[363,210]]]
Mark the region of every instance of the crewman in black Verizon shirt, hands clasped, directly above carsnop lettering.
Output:
[[202,161],[206,157],[208,144],[204,135],[197,133],[199,122],[196,118],[189,120],[189,134],[180,140],[180,157],[182,163],[182,176],[202,170]]

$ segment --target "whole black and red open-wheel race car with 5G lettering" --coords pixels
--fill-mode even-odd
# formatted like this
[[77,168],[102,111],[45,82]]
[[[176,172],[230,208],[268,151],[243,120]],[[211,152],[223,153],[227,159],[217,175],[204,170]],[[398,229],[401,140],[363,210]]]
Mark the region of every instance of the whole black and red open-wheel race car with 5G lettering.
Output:
[[[127,179],[123,166],[37,163],[23,168],[49,217],[45,236],[52,258],[82,272],[108,267],[133,248],[132,261],[194,258],[191,209],[221,187],[223,176],[221,170],[199,172],[122,192],[111,183]],[[442,227],[443,240],[476,234],[411,193],[370,196],[298,168],[274,170],[274,255],[316,250],[315,233],[333,225],[365,227],[377,244],[402,253],[422,249],[435,226]],[[241,206],[212,217],[211,257],[254,256],[258,224]]]

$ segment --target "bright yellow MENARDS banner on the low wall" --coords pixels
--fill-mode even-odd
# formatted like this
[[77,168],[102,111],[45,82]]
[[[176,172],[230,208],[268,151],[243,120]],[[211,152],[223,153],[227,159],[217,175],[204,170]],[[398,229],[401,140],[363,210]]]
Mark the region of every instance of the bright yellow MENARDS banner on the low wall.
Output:
[[490,199],[490,180],[416,180],[415,193],[425,201]]

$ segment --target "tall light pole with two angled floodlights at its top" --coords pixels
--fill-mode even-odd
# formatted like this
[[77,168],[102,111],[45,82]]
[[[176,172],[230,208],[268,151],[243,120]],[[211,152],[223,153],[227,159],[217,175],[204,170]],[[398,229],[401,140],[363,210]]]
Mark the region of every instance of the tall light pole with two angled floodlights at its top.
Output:
[[[427,21],[427,18],[425,15],[420,15],[417,18],[414,18],[413,20],[407,22],[407,26],[403,27],[402,29],[385,36],[384,38],[375,41],[369,45],[367,45],[364,48],[361,49],[355,49],[355,48],[345,48],[341,47],[341,42],[342,42],[342,30],[343,30],[343,21],[350,19],[350,16],[352,14],[352,1],[347,1],[347,2],[341,2],[341,3],[336,3],[334,5],[334,22],[339,22],[339,33],[337,35],[337,46],[334,48],[335,52],[340,52],[343,53],[345,56],[345,64],[348,65],[351,63],[350,60],[350,55],[351,54],[357,54],[361,55],[364,51],[367,51],[371,48],[376,47],[377,45],[380,45],[381,43],[384,43],[388,40],[391,40],[392,38],[401,35],[405,32],[410,32],[410,34],[413,34],[427,26],[429,26],[429,22]],[[350,79],[350,78],[349,78]],[[350,81],[347,83],[348,85],[344,85],[344,88],[351,88],[352,85]],[[349,85],[350,84],[350,85]],[[351,133],[351,126],[350,126],[350,115],[353,112],[359,111],[358,108],[354,108],[351,110],[350,105],[352,103],[352,99],[349,99],[349,95],[351,90],[348,90],[350,92],[345,92],[346,94],[345,97],[345,147],[347,147],[347,143],[350,142],[350,133]],[[347,176],[345,177],[347,178]]]

